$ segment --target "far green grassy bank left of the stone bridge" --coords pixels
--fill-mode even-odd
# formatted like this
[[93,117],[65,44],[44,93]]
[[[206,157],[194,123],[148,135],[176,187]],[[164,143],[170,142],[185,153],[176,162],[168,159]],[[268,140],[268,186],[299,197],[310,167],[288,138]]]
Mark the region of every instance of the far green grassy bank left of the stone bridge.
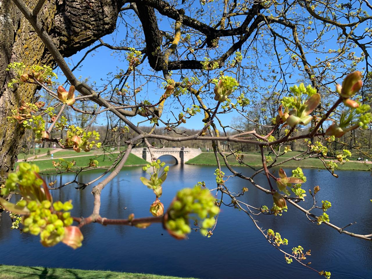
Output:
[[[84,155],[84,153],[76,153],[76,156],[79,155]],[[90,159],[94,159],[98,161],[98,167],[108,167],[111,166],[113,161],[115,161],[115,158],[118,154],[102,154],[102,155],[87,155],[84,157],[72,157],[72,158],[65,158],[67,161],[75,161],[77,167],[86,167],[89,164]],[[32,161],[30,160],[29,163],[34,163],[39,166],[40,171],[51,171],[55,170],[55,168],[52,165],[52,161],[57,161],[58,162],[58,157],[56,156],[53,160],[48,157],[48,159],[45,160],[40,160],[40,161]],[[16,163],[17,166],[18,163]],[[144,164],[147,164],[147,162],[140,158],[137,157],[134,154],[129,154],[128,159],[125,162],[125,166],[143,166]]]

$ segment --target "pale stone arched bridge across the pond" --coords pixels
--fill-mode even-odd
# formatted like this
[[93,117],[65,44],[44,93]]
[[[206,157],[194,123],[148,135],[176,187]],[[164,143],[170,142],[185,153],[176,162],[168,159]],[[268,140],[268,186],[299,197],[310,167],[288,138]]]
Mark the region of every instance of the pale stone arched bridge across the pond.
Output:
[[[184,164],[188,160],[198,156],[202,153],[202,151],[198,148],[171,148],[171,147],[164,147],[164,148],[153,148],[151,150],[155,156],[155,158],[159,158],[162,155],[171,155],[176,159],[176,164]],[[151,163],[151,155],[150,152],[146,147],[144,148],[133,148],[132,153],[140,158]]]

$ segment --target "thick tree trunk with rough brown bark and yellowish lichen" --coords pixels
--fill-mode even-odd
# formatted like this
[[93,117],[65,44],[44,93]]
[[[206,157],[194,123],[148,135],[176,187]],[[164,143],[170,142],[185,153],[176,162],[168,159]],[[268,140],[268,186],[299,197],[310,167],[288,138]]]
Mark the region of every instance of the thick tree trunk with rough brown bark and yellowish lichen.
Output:
[[[36,0],[25,1],[30,9]],[[47,0],[38,18],[64,57],[93,44],[113,32],[123,2],[100,0]],[[13,76],[5,71],[10,62],[54,65],[51,55],[31,25],[11,0],[0,0],[0,182],[13,169],[24,130],[6,116],[21,100],[30,102],[36,87],[24,84],[8,88]]]

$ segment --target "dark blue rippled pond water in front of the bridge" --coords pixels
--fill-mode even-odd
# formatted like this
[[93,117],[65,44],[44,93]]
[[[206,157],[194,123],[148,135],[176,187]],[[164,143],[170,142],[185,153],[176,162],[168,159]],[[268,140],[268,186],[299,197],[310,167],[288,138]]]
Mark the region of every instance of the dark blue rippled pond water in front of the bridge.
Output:
[[[173,165],[163,184],[161,202],[168,207],[177,190],[192,187],[198,181],[215,186],[214,166]],[[228,173],[227,169],[224,169]],[[251,170],[239,168],[243,174]],[[287,174],[291,170],[286,170]],[[348,227],[355,233],[372,232],[372,179],[369,172],[338,171],[339,178],[328,171],[304,169],[307,176],[305,189],[319,185],[317,199],[332,202],[327,214],[331,222]],[[99,171],[90,171],[79,177],[90,181]],[[102,192],[101,215],[107,218],[150,216],[149,206],[154,193],[140,182],[145,173],[140,167],[126,167]],[[67,174],[48,177],[57,179],[57,185],[73,179]],[[256,182],[267,187],[263,175],[256,176]],[[231,191],[248,187],[241,199],[253,206],[272,205],[272,198],[257,190],[250,183],[232,178],[227,182]],[[91,187],[76,190],[65,186],[52,191],[54,199],[73,200],[73,216],[87,217],[93,209]],[[228,201],[226,201],[228,202]],[[302,203],[305,208],[311,202]],[[126,209],[124,209],[126,208]],[[272,247],[254,227],[250,218],[242,211],[222,206],[217,228],[211,238],[192,232],[187,240],[176,240],[164,231],[160,224],[152,224],[145,230],[127,226],[102,226],[89,224],[82,228],[83,246],[77,250],[58,244],[45,248],[39,237],[20,234],[10,230],[11,222],[6,214],[0,225],[0,264],[28,266],[65,267],[79,269],[103,269],[125,272],[154,273],[202,279],[230,278],[320,278],[314,271],[298,263],[287,264],[282,253]],[[311,249],[307,262],[318,270],[327,270],[335,278],[371,278],[372,242],[340,234],[326,225],[312,224],[304,214],[289,205],[288,212],[281,217],[259,215],[260,227],[272,228],[282,238],[288,238],[289,245],[281,246],[291,253],[291,248],[301,245],[305,251]]]

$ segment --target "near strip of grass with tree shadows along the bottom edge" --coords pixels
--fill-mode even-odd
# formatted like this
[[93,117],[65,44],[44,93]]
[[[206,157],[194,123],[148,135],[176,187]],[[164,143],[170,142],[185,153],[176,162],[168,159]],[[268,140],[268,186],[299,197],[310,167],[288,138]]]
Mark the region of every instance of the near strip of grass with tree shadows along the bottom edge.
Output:
[[[81,270],[48,267],[7,266],[0,264],[1,279],[181,279],[141,273]],[[184,278],[193,279],[193,278]]]

